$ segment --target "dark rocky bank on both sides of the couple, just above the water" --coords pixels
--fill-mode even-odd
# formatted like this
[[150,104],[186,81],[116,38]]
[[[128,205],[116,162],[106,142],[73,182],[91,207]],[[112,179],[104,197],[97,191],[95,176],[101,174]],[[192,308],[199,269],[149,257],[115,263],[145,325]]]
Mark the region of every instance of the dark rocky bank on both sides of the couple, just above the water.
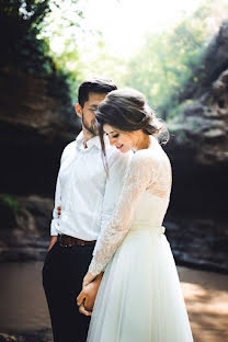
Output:
[[[179,266],[228,274],[228,237],[219,235],[213,220],[172,219],[164,226]],[[15,229],[7,239],[0,237],[0,263],[44,261],[48,244],[47,233]]]

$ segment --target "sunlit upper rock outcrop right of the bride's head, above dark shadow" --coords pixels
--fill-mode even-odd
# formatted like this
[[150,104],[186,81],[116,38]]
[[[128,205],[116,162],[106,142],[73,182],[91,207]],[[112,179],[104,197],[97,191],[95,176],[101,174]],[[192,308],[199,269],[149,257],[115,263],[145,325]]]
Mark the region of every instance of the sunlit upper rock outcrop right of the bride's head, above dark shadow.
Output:
[[201,166],[228,163],[228,69],[202,98],[169,122],[173,141],[194,151]]

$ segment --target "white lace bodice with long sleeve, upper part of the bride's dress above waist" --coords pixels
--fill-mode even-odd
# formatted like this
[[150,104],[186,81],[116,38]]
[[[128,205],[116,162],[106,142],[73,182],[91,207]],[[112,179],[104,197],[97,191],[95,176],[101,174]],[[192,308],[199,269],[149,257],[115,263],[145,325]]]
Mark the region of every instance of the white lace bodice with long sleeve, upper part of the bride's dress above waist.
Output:
[[105,270],[134,223],[162,224],[170,190],[169,158],[157,139],[151,137],[151,146],[137,151],[130,161],[116,208],[96,241],[90,273],[96,275]]

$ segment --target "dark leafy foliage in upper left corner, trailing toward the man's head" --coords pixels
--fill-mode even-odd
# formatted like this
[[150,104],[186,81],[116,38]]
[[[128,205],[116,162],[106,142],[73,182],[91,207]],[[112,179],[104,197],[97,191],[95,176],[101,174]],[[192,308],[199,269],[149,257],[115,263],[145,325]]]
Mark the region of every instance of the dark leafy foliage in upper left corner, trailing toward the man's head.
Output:
[[[48,19],[58,12],[58,34],[73,24],[79,26],[82,12],[72,7],[78,0],[0,0],[0,67],[12,66],[29,75],[49,80],[49,93],[61,99],[62,112],[71,111],[72,89],[77,83],[77,71],[67,70],[68,59],[78,58],[76,48],[68,50],[67,42],[61,55],[53,56],[49,44],[54,35],[46,36]],[[62,8],[71,4],[75,22],[67,20]],[[57,32],[56,32],[57,34]],[[76,59],[77,59],[76,58]],[[76,94],[76,90],[75,90]],[[67,115],[65,115],[67,116]]]

